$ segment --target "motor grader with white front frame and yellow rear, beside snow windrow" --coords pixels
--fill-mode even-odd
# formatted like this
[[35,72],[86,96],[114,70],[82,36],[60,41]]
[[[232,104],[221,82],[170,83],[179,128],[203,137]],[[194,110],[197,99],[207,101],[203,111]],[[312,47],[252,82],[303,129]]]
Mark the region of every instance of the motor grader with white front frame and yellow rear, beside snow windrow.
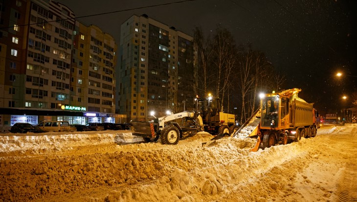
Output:
[[230,135],[238,130],[233,114],[220,111],[220,99],[195,99],[195,111],[183,111],[168,114],[152,121],[131,121],[134,136],[143,137],[144,141],[161,140],[162,144],[177,144],[183,135],[192,135],[206,131],[212,135]]

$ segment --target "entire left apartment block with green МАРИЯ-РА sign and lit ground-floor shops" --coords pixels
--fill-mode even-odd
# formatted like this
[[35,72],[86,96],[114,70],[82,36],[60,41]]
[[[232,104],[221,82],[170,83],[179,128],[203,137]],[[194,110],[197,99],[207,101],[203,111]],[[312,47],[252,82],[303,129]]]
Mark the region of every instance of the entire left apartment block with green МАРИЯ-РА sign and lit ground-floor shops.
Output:
[[0,2],[0,126],[114,122],[115,41],[74,17],[53,0]]

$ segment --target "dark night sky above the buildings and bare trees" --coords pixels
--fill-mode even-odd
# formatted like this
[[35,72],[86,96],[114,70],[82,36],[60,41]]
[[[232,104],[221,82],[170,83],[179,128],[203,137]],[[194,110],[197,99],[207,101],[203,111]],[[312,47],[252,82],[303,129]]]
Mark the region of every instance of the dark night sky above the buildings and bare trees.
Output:
[[[351,95],[357,91],[356,0],[57,1],[76,17],[121,11],[77,19],[97,25],[118,45],[121,23],[134,14],[147,14],[191,36],[195,26],[208,36],[220,24],[237,44],[251,42],[253,49],[266,53],[275,68],[286,74],[284,88],[301,88],[299,96],[313,102],[321,114],[352,106]],[[336,78],[337,71],[351,76]]]

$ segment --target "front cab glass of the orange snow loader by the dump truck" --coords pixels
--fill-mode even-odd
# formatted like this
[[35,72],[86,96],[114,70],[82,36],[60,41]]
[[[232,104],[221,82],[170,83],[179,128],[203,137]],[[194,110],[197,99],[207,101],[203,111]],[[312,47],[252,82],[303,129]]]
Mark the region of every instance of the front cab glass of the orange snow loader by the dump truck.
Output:
[[[276,127],[278,124],[279,112],[279,96],[262,98],[262,126],[263,127]],[[274,122],[271,125],[271,122]]]

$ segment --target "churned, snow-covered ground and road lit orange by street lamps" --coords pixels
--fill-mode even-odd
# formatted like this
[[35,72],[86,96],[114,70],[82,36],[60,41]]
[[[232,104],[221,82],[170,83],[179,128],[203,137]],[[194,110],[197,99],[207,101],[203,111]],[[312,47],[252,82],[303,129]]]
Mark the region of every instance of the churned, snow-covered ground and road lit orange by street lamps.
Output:
[[357,125],[249,152],[199,133],[177,145],[131,131],[0,136],[0,201],[356,201]]

